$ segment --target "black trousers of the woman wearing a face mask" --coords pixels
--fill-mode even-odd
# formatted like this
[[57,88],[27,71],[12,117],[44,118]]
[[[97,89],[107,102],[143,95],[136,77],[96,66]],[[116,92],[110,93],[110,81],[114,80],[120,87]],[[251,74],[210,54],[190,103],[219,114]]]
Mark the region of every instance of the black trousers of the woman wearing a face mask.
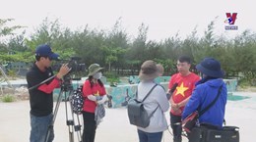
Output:
[[95,142],[96,137],[96,120],[95,114],[83,112],[84,131],[83,142]]

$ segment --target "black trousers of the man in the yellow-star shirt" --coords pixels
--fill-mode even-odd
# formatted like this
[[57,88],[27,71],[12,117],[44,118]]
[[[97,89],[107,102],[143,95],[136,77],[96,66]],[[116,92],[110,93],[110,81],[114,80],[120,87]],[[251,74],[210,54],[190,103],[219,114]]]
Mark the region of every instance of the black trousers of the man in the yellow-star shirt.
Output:
[[174,116],[173,114],[169,113],[170,116],[170,126],[172,128],[173,133],[173,142],[181,142],[181,116]]

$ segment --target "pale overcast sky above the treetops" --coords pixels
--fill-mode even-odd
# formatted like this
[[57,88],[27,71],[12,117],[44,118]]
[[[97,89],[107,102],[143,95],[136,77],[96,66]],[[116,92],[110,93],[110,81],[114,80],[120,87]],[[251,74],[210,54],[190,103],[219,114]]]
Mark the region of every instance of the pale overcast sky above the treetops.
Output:
[[[121,18],[122,27],[131,37],[138,27],[149,26],[148,39],[161,40],[178,35],[186,38],[198,30],[202,36],[215,21],[215,34],[234,37],[246,29],[256,31],[253,0],[0,0],[0,19],[27,26],[30,33],[45,18],[56,19],[72,30],[86,24],[90,28],[111,29]],[[225,30],[225,13],[237,13],[238,30]],[[28,33],[28,34],[29,34]]]

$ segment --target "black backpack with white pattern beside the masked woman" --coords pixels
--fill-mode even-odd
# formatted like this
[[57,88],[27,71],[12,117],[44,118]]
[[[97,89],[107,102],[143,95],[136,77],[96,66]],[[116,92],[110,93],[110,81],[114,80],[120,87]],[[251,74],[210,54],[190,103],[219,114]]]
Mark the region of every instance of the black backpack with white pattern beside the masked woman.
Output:
[[74,90],[70,99],[73,113],[80,115],[83,111],[84,102],[85,98],[83,96],[83,85],[81,85],[76,90]]

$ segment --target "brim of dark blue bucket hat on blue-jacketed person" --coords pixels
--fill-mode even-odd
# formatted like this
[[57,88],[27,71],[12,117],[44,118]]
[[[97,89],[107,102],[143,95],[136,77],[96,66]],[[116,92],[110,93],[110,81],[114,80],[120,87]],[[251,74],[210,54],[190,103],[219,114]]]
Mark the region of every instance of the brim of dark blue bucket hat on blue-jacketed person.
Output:
[[196,66],[196,69],[198,71],[201,71],[202,73],[212,76],[212,77],[218,77],[218,78],[223,78],[224,77],[224,71],[210,71],[206,68],[204,68],[201,64]]

